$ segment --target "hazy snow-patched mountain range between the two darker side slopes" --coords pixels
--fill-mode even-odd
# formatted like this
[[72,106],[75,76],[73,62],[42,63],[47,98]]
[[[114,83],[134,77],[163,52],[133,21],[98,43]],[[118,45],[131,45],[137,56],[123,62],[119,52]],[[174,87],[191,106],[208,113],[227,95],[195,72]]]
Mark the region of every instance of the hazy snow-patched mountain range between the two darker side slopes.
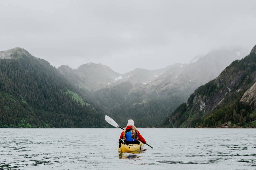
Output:
[[[189,64],[177,63],[158,70],[137,68],[117,75],[113,75],[114,71],[109,67],[107,71],[104,65],[95,63],[89,63],[95,65],[94,68],[87,66],[79,74],[77,70],[65,66],[69,76],[67,72],[64,73],[64,66],[59,70],[70,82],[80,87],[83,87],[82,84],[84,87],[93,87],[90,90],[95,94],[95,100],[119,123],[125,125],[127,120],[123,118],[129,117],[138,122],[140,127],[161,127],[162,120],[185,102],[196,88],[216,78],[227,65],[239,58],[237,51],[214,50],[204,56],[194,57]],[[88,76],[92,72],[95,75]],[[95,82],[101,83],[101,86]]]

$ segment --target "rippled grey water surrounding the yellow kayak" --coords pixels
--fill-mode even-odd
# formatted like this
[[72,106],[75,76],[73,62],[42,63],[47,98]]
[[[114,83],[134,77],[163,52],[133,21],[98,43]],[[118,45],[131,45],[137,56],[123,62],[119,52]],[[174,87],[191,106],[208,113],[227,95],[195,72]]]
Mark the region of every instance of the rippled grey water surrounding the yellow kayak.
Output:
[[150,148],[119,153],[121,129],[0,129],[0,169],[256,169],[256,129],[139,129]]

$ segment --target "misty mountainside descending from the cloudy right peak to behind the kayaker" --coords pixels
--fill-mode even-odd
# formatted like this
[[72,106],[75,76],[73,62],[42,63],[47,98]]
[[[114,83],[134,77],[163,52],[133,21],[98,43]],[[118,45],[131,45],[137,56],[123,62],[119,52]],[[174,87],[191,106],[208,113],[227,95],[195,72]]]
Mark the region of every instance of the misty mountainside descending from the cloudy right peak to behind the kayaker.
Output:
[[174,64],[143,86],[124,82],[100,89],[95,92],[96,99],[124,125],[127,119],[133,119],[144,128],[162,127],[163,120],[196,88],[216,78],[226,66],[240,57],[236,51],[215,50],[190,64]]

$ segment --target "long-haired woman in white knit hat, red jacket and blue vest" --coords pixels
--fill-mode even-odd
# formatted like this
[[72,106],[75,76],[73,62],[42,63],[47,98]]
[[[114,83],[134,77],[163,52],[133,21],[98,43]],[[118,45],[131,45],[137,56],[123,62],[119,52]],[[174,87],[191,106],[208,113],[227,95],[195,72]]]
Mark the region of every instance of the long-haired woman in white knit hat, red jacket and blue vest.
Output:
[[[120,135],[120,139],[124,139],[124,143],[139,144],[146,143],[146,140],[142,137],[139,130],[134,126],[133,120],[128,120],[127,127],[124,128]],[[139,141],[140,140],[140,141]]]

